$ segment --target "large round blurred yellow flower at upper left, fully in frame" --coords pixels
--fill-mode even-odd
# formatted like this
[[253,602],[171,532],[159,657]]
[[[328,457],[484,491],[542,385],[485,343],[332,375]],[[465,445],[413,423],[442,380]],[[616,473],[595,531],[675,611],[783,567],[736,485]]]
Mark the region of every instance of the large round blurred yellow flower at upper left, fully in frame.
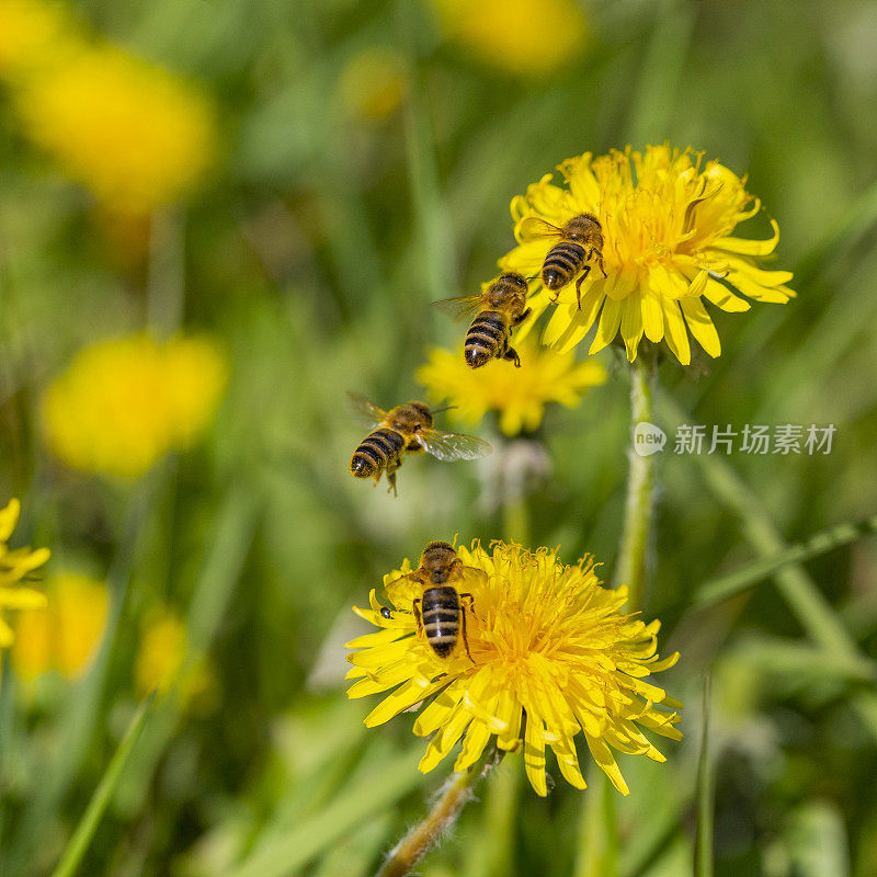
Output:
[[119,213],[176,201],[215,150],[205,95],[111,45],[83,47],[32,77],[16,105],[33,141]]

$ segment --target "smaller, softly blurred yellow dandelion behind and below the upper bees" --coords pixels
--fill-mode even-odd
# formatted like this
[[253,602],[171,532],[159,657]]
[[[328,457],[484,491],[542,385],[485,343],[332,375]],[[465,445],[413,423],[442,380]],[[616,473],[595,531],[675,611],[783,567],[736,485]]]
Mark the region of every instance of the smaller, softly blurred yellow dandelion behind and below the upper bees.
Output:
[[605,368],[594,360],[577,363],[572,352],[558,354],[526,340],[515,346],[521,368],[499,360],[469,368],[462,350],[433,348],[417,379],[433,401],[447,399],[454,406],[448,412],[453,420],[478,423],[488,411],[497,411],[509,436],[535,432],[548,402],[573,408],[589,387],[606,380]]

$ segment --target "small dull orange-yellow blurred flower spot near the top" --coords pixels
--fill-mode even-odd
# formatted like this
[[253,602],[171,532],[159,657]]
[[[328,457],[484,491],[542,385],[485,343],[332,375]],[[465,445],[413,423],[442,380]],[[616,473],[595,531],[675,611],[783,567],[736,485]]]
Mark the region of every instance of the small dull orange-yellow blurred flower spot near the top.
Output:
[[407,88],[399,55],[369,48],[354,55],[341,71],[339,94],[348,113],[365,122],[380,122],[399,107]]

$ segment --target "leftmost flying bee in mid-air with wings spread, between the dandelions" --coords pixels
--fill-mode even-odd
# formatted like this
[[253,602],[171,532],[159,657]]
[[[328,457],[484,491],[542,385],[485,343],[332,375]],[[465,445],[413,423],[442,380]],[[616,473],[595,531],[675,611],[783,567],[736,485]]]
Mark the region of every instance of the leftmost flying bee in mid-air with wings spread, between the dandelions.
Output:
[[350,394],[350,398],[354,413],[372,429],[353,452],[350,470],[356,478],[374,478],[376,487],[386,471],[394,496],[396,470],[405,454],[425,451],[438,459],[477,459],[490,453],[490,445],[474,435],[436,430],[433,411],[423,402],[407,402],[384,411],[362,396]]

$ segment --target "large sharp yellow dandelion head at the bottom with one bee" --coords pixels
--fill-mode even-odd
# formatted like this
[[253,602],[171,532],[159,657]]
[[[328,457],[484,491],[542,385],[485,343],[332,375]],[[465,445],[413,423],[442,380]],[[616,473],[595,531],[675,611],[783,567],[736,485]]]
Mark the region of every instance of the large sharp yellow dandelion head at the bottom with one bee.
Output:
[[467,581],[471,658],[459,642],[438,658],[425,641],[412,614],[420,590],[403,578],[411,571],[407,559],[384,577],[392,611],[380,605],[374,591],[371,610],[354,610],[381,630],[348,643],[357,649],[348,657],[353,664],[348,677],[355,680],[348,695],[394,690],[369,713],[366,726],[429,701],[414,722],[415,734],[432,737],[419,765],[423,773],[464,733],[454,770],[466,770],[496,736],[500,750],[523,745],[526,774],[539,795],[548,790],[546,744],[567,782],[585,787],[577,752],[581,734],[596,763],[626,795],[612,750],[662,762],[664,756],[641,729],[681,739],[674,727],[679,715],[656,706],[675,702],[646,681],[679,658],[658,659],[660,623],[622,615],[627,589],[602,588],[588,559],[565,566],[548,549],[529,551],[501,542],[490,551],[477,540],[471,550],[457,550],[464,565],[486,573]]

